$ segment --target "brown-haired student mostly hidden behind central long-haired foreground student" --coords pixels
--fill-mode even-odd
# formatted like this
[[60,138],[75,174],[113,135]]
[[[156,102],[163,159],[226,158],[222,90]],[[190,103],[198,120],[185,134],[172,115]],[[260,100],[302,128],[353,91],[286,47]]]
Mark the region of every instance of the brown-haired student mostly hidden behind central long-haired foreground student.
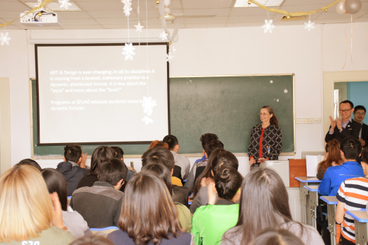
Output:
[[182,203],[183,205],[188,205],[188,188],[177,186],[175,184],[175,181],[180,180],[173,177],[173,169],[175,166],[173,154],[171,154],[171,152],[165,147],[154,147],[144,152],[142,155],[142,167],[148,164],[163,164],[168,168],[168,171],[171,173],[171,183],[173,183],[173,201],[176,203]]

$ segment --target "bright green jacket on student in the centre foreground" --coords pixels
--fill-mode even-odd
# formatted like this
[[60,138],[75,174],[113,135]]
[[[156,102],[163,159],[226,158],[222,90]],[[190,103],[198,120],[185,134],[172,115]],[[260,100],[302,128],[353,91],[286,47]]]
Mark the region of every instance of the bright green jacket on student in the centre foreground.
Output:
[[238,222],[239,205],[198,207],[192,217],[192,234],[196,245],[216,245],[222,235]]

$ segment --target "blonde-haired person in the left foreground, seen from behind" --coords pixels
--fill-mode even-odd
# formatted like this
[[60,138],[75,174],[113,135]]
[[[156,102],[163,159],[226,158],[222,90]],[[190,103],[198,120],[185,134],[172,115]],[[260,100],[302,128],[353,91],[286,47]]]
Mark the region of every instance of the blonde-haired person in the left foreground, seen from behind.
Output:
[[40,171],[14,166],[0,176],[0,244],[68,245],[74,237],[62,220],[57,193]]

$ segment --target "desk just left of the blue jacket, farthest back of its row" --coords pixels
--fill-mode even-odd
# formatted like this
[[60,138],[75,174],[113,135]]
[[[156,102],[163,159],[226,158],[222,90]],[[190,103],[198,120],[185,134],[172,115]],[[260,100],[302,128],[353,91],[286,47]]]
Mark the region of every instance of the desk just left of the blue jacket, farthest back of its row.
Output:
[[[312,224],[312,221],[309,221],[309,190],[304,188],[304,186],[318,186],[321,183],[320,180],[316,177],[306,177],[306,176],[298,176],[295,177],[297,181],[299,181],[299,191],[300,191],[300,203],[301,203],[301,222],[303,224]],[[308,208],[307,208],[308,207]]]

